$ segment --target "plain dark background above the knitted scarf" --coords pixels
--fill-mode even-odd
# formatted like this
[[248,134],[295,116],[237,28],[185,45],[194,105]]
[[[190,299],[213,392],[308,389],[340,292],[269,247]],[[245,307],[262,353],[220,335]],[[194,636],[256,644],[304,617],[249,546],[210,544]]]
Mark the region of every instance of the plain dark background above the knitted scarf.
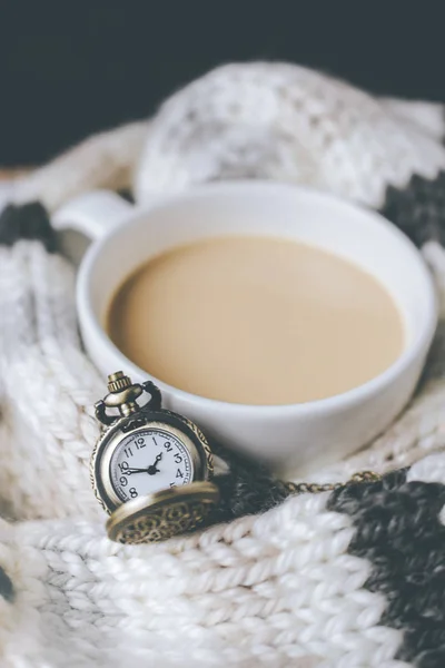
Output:
[[445,100],[442,2],[0,0],[0,165],[47,160],[148,116],[231,60],[320,68],[372,91]]

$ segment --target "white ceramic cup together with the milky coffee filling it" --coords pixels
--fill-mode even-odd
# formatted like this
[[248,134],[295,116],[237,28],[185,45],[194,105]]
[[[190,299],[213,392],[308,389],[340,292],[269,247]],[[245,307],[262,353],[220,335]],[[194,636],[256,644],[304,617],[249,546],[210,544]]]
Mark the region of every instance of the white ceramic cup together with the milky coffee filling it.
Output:
[[146,207],[90,193],[53,223],[93,242],[77,307],[99,371],[151,379],[166,407],[280,473],[358,450],[415,390],[435,288],[415,246],[374,212],[236,181]]

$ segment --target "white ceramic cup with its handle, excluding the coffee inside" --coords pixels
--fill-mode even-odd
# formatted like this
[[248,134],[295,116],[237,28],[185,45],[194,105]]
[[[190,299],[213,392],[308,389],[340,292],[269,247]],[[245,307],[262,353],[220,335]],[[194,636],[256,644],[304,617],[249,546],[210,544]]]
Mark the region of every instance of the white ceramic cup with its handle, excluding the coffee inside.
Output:
[[[154,380],[166,407],[281,474],[308,474],[358,450],[388,426],[414,392],[436,326],[435,288],[415,246],[374,212],[305,187],[235,181],[159,197],[144,208],[112,193],[90,193],[63,206],[53,223],[95,242],[80,263],[77,307],[86,350],[99,371],[106,376],[122,370],[135,381]],[[405,324],[406,344],[398,360],[344,394],[274,406],[189,394],[130,362],[103,330],[116,288],[136,267],[168,248],[237,234],[306,242],[353,261],[379,279]]]

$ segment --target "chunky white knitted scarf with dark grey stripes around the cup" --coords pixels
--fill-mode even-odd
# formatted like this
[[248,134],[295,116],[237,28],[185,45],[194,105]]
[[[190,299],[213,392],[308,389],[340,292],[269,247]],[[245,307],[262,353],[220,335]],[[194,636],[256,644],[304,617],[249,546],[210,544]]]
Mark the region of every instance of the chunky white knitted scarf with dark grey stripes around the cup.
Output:
[[46,210],[97,187],[145,203],[225,178],[309,184],[404,229],[444,311],[444,131],[442,105],[375,98],[294,65],[229,65],[154,119],[11,184],[0,218],[2,668],[443,668],[444,317],[404,414],[314,475],[374,470],[380,482],[288,497],[220,450],[224,523],[119,546],[88,474],[105,381],[82,351],[76,269],[55,252]]

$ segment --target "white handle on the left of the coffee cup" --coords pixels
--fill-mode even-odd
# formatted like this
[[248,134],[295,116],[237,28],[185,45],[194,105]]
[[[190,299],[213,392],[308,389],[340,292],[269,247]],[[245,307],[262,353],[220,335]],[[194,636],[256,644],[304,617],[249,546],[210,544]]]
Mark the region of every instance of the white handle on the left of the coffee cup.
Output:
[[56,230],[75,230],[95,242],[128,216],[134,206],[111,190],[75,197],[52,216]]

